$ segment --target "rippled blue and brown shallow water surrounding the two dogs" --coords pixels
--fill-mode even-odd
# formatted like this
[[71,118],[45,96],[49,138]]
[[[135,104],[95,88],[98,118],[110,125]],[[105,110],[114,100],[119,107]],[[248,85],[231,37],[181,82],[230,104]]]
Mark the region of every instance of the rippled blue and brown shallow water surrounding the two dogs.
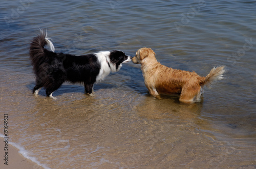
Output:
[[[255,1],[5,1],[0,106],[9,139],[46,168],[255,168]],[[29,43],[48,29],[57,52],[151,47],[163,65],[225,79],[202,102],[148,94],[139,65],[94,86],[32,95]],[[1,115],[2,116],[2,115]],[[4,118],[0,118],[1,124]],[[3,130],[2,130],[3,131]],[[1,134],[3,134],[1,132]]]

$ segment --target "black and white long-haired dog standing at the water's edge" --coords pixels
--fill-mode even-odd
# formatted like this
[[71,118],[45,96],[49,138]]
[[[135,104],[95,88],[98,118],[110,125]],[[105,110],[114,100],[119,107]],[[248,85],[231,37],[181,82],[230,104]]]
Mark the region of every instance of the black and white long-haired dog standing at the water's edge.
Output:
[[[46,44],[52,51],[44,48]],[[54,50],[51,39],[44,31],[41,31],[30,45],[30,60],[36,75],[33,94],[37,95],[44,87],[46,95],[56,99],[52,93],[65,81],[83,83],[85,93],[91,94],[95,82],[103,80],[110,72],[119,71],[122,63],[132,61],[132,57],[118,50],[80,56],[56,53]]]

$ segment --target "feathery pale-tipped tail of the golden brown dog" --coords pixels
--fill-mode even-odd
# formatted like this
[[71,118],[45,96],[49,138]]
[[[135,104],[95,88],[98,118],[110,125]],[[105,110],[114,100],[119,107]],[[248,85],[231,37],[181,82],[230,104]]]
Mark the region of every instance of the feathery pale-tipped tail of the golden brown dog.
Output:
[[223,74],[225,73],[225,66],[214,67],[210,70],[210,73],[206,77],[202,77],[200,80],[200,86],[206,85],[210,89],[211,84],[215,81],[223,79]]

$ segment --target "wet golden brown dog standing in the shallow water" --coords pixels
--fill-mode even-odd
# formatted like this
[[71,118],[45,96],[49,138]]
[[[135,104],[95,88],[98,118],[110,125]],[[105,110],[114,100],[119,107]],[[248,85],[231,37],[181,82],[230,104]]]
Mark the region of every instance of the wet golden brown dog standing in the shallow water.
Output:
[[180,94],[181,102],[200,101],[203,86],[210,87],[214,81],[223,79],[224,67],[214,67],[206,77],[196,72],[168,68],[157,62],[151,48],[140,48],[133,63],[141,64],[144,83],[150,94],[161,99],[159,94]]

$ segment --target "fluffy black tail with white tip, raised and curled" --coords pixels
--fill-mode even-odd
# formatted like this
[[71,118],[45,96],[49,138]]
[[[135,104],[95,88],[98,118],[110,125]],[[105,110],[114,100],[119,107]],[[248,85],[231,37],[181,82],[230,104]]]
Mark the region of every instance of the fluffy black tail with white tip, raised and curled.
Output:
[[30,60],[33,65],[33,70],[36,73],[36,69],[42,64],[45,63],[47,58],[45,57],[44,46],[49,45],[50,49],[54,52],[54,45],[51,42],[51,39],[47,37],[47,31],[40,30],[40,34],[37,37],[34,37],[33,41],[30,44]]

